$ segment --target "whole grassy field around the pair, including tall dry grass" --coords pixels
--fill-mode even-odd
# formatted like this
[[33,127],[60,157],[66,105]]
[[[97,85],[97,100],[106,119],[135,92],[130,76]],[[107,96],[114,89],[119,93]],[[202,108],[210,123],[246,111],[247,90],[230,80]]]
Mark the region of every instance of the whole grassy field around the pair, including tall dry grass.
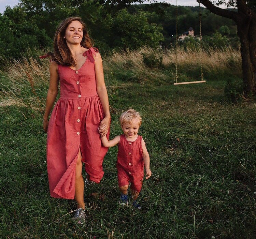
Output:
[[[117,148],[104,159],[100,184],[85,191],[86,223],[71,221],[71,200],[51,198],[42,112],[48,61],[13,62],[1,73],[1,238],[255,238],[256,103],[230,103],[227,79],[241,79],[240,55],[203,53],[205,84],[173,86],[175,53],[160,68],[143,64],[141,49],[103,57],[111,105],[111,137],[132,107],[151,156],[152,177],[141,210],[118,205]],[[39,53],[38,53],[39,54]],[[157,53],[156,53],[157,54]],[[197,52],[179,51],[179,80],[198,80]],[[91,196],[104,194],[104,200]]]

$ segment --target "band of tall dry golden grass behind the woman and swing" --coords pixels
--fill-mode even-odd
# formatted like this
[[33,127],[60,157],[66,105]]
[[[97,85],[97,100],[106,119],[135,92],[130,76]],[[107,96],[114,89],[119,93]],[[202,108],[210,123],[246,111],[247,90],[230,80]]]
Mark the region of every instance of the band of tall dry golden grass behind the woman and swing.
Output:
[[[142,54],[162,54],[162,67],[150,69],[143,63]],[[165,51],[143,47],[138,50],[113,51],[110,56],[103,56],[106,85],[122,84],[133,80],[142,84],[158,82],[172,84],[175,75],[176,50]],[[230,71],[242,76],[241,55],[239,51],[227,49],[208,49],[202,51],[204,72],[218,73]],[[178,72],[197,71],[201,65],[199,50],[179,48],[177,50]],[[184,73],[183,73],[184,74]],[[44,104],[49,82],[49,59],[35,59],[31,56],[9,62],[2,72],[0,105],[31,105],[41,108]]]

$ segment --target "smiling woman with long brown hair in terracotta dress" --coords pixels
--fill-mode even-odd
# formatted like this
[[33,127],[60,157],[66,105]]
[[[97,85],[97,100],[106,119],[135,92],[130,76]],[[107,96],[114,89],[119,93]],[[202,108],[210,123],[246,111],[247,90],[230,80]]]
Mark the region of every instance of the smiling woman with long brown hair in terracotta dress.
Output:
[[[62,21],[54,36],[54,54],[50,61],[50,83],[43,128],[47,133],[47,171],[52,197],[75,199],[74,219],[85,220],[82,162],[88,180],[99,183],[102,162],[108,148],[101,144],[99,125],[108,127],[110,112],[102,59],[92,47],[86,26],[80,17]],[[58,94],[51,118],[49,114]]]

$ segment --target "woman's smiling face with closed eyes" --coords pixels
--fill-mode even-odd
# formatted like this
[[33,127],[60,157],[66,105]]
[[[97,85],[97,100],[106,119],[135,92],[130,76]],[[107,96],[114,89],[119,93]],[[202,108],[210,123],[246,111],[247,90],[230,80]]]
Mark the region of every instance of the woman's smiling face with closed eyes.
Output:
[[80,44],[83,38],[83,26],[80,21],[72,21],[65,32],[67,43]]

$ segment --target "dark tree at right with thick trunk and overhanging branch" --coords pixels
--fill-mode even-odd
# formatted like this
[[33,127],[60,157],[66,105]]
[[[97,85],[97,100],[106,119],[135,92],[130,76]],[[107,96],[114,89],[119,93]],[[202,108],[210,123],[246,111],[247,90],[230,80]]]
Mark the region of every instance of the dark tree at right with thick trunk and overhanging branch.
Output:
[[217,0],[216,5],[226,4],[237,11],[221,9],[210,0],[196,0],[212,13],[232,19],[237,25],[241,43],[244,93],[256,95],[256,1],[255,0]]

